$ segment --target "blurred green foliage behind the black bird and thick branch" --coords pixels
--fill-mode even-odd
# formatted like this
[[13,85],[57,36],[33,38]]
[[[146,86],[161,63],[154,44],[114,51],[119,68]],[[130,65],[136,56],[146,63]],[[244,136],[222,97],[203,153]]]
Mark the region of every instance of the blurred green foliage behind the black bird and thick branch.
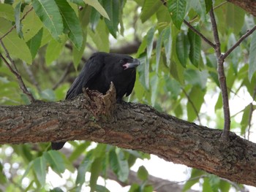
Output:
[[[178,118],[221,129],[222,96],[214,49],[183,22],[189,21],[213,40],[208,15],[212,4],[225,53],[255,26],[255,19],[222,0],[1,1],[0,38],[36,99],[63,100],[91,53],[127,53],[141,62],[134,91],[127,101],[149,104]],[[255,47],[256,32],[225,60],[231,128],[246,139],[255,131]],[[0,52],[6,53],[3,46]],[[0,90],[1,105],[29,104],[3,60]],[[136,159],[150,158],[137,151],[88,141],[69,144],[63,153],[50,150],[49,143],[2,145],[0,190],[80,191],[89,185],[91,191],[109,191],[97,183],[99,176],[108,179],[110,169],[125,183]],[[78,158],[82,158],[80,164],[75,164]],[[53,183],[46,180],[50,169],[60,177],[64,172],[72,174],[61,188],[53,189]],[[89,178],[86,172],[91,172]],[[129,191],[153,190],[143,166],[138,178],[141,183],[133,183]],[[195,183],[199,183],[201,191],[244,188],[193,169],[184,191]]]

